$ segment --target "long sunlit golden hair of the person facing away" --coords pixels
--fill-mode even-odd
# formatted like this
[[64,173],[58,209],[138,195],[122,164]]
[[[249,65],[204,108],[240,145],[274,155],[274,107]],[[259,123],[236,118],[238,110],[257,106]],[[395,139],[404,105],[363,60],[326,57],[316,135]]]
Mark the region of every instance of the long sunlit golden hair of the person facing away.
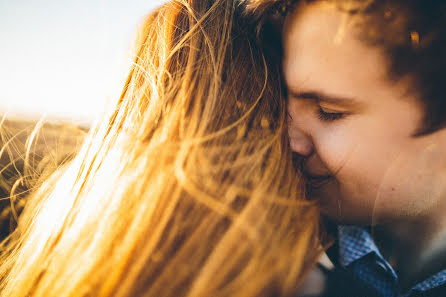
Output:
[[171,1],[145,19],[114,112],[4,242],[0,296],[295,290],[319,213],[293,169],[279,56],[241,3]]

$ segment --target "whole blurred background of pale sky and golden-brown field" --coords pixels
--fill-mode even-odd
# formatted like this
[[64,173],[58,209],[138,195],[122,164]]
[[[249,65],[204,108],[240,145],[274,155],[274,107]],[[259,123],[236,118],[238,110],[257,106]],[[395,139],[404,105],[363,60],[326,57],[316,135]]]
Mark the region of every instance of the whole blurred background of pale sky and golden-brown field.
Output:
[[0,0],[0,239],[33,179],[70,160],[120,95],[137,27],[163,1]]

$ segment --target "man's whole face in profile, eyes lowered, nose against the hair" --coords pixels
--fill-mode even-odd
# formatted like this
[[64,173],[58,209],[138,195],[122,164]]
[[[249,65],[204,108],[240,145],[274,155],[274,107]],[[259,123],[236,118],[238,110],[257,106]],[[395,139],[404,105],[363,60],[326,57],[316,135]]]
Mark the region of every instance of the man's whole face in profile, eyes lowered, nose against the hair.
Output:
[[410,80],[390,81],[386,58],[358,40],[350,21],[323,2],[286,19],[291,147],[305,156],[318,184],[311,193],[329,217],[370,224],[429,216],[444,192],[444,129],[413,136],[423,110]]

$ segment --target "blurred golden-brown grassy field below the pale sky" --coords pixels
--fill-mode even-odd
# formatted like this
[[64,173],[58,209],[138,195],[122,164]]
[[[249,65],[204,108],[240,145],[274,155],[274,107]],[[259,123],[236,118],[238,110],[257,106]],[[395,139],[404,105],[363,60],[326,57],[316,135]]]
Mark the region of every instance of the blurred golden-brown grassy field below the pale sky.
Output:
[[3,114],[0,120],[0,241],[17,226],[29,191],[82,145],[85,129],[42,117],[20,120]]

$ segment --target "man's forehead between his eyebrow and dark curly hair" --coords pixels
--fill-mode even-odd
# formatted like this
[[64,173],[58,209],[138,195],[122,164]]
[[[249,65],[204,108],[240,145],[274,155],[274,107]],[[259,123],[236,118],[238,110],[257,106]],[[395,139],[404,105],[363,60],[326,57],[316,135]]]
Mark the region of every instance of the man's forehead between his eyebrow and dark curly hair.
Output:
[[296,7],[288,16],[283,71],[289,89],[363,98],[364,92],[372,94],[377,91],[372,88],[390,83],[381,51],[357,40],[351,30],[340,31],[344,15],[334,6],[315,3]]

